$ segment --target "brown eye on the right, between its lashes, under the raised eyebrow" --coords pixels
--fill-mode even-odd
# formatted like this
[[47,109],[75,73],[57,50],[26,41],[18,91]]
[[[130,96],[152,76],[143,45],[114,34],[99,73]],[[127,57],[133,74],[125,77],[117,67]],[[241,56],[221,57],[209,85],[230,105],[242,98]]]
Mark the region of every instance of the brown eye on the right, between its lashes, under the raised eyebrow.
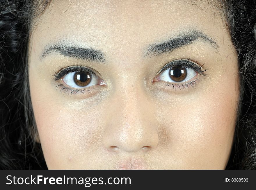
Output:
[[198,72],[191,68],[183,66],[171,67],[161,72],[156,79],[170,83],[184,83],[193,80]]

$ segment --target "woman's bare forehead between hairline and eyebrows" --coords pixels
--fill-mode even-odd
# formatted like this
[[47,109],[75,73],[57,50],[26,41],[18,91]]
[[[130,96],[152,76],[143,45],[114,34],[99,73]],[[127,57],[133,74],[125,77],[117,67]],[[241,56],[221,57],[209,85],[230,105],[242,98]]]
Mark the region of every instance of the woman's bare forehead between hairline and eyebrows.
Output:
[[132,49],[135,53],[149,43],[190,29],[221,39],[220,43],[227,35],[214,5],[191,0],[52,1],[35,19],[35,25],[33,43],[42,49],[65,40],[113,52]]

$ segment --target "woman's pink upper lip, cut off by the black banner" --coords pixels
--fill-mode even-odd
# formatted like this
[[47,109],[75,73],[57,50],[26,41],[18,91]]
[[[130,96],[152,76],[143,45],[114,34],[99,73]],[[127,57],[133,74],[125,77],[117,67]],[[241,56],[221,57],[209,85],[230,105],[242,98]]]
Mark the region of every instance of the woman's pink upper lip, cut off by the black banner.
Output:
[[125,161],[119,162],[118,167],[119,170],[145,170],[146,163],[143,159],[134,159],[130,158]]

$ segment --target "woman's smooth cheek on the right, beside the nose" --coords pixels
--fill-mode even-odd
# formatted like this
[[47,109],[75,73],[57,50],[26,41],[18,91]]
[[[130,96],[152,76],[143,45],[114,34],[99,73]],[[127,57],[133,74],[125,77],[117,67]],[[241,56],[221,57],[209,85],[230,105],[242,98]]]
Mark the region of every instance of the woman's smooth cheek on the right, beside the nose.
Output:
[[200,96],[179,96],[161,106],[166,110],[161,120],[168,134],[161,139],[168,142],[174,162],[184,169],[225,168],[235,129],[236,94],[232,86],[225,91],[215,88]]

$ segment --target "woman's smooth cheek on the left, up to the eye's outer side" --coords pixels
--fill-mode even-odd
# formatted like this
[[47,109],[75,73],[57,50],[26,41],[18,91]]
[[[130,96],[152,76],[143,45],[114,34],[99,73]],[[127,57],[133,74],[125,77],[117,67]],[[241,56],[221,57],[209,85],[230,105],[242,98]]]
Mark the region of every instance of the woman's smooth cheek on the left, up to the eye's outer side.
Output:
[[[40,143],[49,169],[75,165],[77,155],[90,159],[99,144],[99,110],[59,96],[30,78],[31,100]],[[45,90],[42,90],[45,89]],[[56,94],[58,96],[56,96]]]

